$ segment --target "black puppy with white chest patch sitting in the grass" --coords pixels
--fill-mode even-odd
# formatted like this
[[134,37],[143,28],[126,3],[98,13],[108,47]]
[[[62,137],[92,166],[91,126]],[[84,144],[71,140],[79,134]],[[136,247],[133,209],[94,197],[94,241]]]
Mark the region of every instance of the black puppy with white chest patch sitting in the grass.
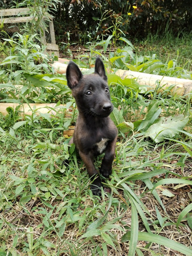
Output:
[[74,136],[79,155],[86,165],[91,178],[93,195],[100,194],[101,180],[95,169],[93,158],[105,151],[100,174],[109,178],[115,155],[117,127],[109,115],[113,111],[110,92],[102,60],[97,57],[95,72],[82,75],[78,66],[70,61],[66,77],[79,111]]

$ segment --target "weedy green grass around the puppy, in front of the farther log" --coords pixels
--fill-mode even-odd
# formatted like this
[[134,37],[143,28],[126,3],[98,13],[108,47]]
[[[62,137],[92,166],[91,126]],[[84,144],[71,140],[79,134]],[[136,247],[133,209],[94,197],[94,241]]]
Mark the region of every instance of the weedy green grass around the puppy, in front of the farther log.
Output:
[[[37,60],[42,55],[32,46]],[[57,108],[54,115],[0,113],[0,254],[191,255],[191,95],[146,92],[135,80],[111,83],[119,136],[113,173],[103,180],[112,193],[102,189],[98,198],[63,135],[77,116],[65,76],[39,62],[21,76],[15,66],[26,72],[23,57],[15,66],[9,61],[0,73],[3,102],[55,102]],[[166,139],[161,132],[153,138],[153,125],[169,116]]]

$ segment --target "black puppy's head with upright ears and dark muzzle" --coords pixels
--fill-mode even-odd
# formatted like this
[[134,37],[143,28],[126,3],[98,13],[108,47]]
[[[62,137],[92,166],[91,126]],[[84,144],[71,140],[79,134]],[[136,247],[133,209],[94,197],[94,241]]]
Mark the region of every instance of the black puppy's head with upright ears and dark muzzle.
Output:
[[66,77],[79,111],[90,116],[110,115],[113,105],[110,100],[104,65],[99,57],[95,61],[95,72],[84,76],[78,66],[70,61]]

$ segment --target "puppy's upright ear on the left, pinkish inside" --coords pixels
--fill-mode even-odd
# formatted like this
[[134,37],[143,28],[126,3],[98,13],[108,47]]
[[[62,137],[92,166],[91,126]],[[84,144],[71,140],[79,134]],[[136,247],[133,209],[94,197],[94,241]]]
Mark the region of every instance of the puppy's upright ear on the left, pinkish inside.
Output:
[[68,64],[66,78],[70,89],[76,87],[79,83],[79,80],[82,78],[82,73],[79,67],[73,61],[70,61]]

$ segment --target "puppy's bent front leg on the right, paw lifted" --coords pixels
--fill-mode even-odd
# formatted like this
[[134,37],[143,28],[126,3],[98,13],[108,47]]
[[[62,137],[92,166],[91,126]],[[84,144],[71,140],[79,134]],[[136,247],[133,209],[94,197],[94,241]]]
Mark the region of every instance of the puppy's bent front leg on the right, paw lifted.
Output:
[[117,141],[117,137],[108,143],[104,158],[102,160],[100,174],[102,174],[102,176],[105,178],[109,178],[109,176],[112,173],[112,163],[115,156],[116,141]]

